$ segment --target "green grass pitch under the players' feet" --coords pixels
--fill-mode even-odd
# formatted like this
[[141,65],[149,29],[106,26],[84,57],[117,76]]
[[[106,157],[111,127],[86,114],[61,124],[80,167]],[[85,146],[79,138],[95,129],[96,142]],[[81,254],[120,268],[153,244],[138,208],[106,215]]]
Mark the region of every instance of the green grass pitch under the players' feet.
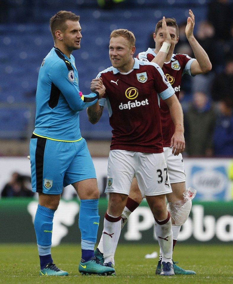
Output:
[[176,244],[174,261],[179,266],[194,270],[196,275],[155,275],[158,258],[145,259],[146,254],[159,252],[158,243],[145,245],[119,244],[115,254],[116,277],[81,275],[78,263],[81,247],[62,244],[52,248],[52,257],[57,267],[69,272],[67,277],[39,276],[39,257],[36,244],[0,244],[1,284],[140,284],[140,283],[233,283],[233,244],[208,245]]

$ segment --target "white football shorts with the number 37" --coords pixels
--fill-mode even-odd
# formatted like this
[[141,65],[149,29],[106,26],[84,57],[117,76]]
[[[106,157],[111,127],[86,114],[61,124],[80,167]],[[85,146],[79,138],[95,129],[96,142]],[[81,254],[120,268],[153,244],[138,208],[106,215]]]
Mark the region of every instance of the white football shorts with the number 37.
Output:
[[105,193],[114,192],[129,195],[134,177],[137,179],[142,196],[172,192],[163,153],[111,150],[107,176]]

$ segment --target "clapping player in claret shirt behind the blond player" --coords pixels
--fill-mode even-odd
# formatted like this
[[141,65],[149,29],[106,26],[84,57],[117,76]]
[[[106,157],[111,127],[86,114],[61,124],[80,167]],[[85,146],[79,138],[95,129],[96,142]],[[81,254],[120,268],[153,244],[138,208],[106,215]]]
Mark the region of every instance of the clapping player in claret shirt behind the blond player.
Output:
[[[166,25],[164,24],[164,21]],[[211,63],[208,55],[200,46],[193,35],[195,20],[194,14],[189,10],[187,19],[186,36],[192,47],[195,58],[189,57],[187,54],[173,54],[176,43],[179,40],[179,29],[175,19],[163,17],[155,28],[154,40],[155,49],[149,48],[146,52],[138,54],[138,58],[145,62],[155,62],[160,65],[166,78],[171,83],[175,90],[175,94],[179,99],[181,89],[181,78],[184,74],[191,76],[203,74],[211,70]],[[187,220],[192,199],[195,196],[195,190],[186,190],[185,172],[182,154],[173,155],[173,149],[170,148],[171,138],[174,133],[174,124],[171,119],[169,108],[163,100],[160,100],[161,125],[163,133],[163,150],[167,162],[169,178],[172,188],[172,193],[166,195],[168,200],[168,211],[171,214],[172,231],[173,231],[173,248],[181,229],[181,225]],[[139,206],[142,201],[142,195],[138,188],[138,183],[134,178],[130,194],[123,209],[121,228],[126,224],[129,215]],[[101,259],[102,256],[102,240],[100,241],[95,254]],[[156,268],[156,274],[161,271],[162,252]],[[175,274],[195,274],[192,270],[184,270],[173,262]]]

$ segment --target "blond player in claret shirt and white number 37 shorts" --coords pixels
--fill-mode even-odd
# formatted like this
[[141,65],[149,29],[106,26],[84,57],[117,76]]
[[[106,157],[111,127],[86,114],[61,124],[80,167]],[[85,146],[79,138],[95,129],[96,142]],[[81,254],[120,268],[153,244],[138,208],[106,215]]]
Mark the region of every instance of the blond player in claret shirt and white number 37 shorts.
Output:
[[[91,90],[106,88],[102,100],[88,107],[91,123],[98,122],[105,102],[113,128],[106,193],[109,202],[102,233],[105,265],[114,267],[114,254],[120,236],[121,214],[126,206],[134,177],[140,194],[145,196],[155,218],[155,232],[162,251],[161,275],[174,275],[172,264],[172,226],[165,195],[171,193],[163,153],[160,98],[171,113],[175,131],[173,154],[184,151],[184,127],[181,105],[161,68],[133,58],[134,34],[125,29],[110,35],[109,55],[112,67],[103,70],[91,82]],[[154,174],[156,173],[156,174]]]

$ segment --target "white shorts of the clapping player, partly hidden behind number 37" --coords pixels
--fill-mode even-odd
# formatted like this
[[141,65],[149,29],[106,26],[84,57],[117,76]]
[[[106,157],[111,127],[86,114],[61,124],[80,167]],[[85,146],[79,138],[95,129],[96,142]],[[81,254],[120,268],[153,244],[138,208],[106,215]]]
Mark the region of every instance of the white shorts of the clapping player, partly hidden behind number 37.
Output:
[[186,174],[182,154],[180,153],[178,156],[174,156],[172,154],[172,148],[170,147],[164,147],[163,151],[167,162],[170,183],[185,182]]

